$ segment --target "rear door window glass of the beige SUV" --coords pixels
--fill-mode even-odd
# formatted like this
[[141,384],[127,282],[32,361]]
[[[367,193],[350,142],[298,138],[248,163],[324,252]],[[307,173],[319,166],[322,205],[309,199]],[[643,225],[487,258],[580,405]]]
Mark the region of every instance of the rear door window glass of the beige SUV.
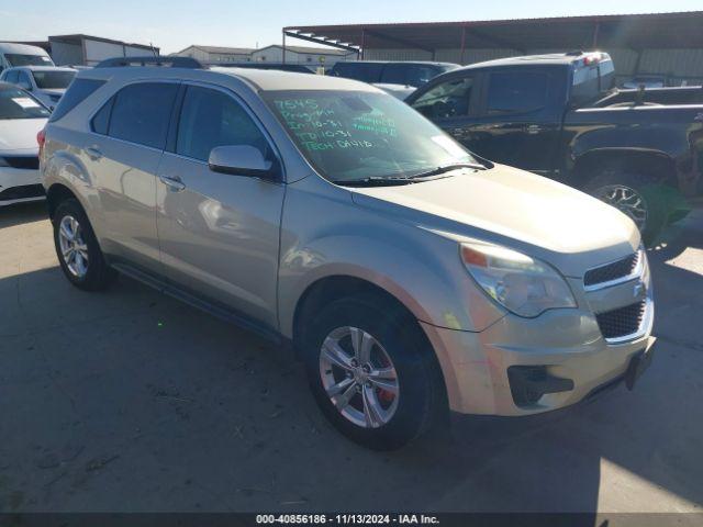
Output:
[[114,96],[108,135],[164,148],[177,92],[178,85],[171,82],[142,82],[123,88]]

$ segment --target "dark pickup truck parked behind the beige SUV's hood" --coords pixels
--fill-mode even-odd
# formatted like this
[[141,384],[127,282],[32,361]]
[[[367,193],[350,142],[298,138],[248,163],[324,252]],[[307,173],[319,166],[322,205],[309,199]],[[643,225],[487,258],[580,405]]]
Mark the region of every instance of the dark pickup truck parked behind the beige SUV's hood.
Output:
[[652,243],[703,193],[703,88],[614,88],[604,53],[455,69],[406,102],[487,159],[584,190]]

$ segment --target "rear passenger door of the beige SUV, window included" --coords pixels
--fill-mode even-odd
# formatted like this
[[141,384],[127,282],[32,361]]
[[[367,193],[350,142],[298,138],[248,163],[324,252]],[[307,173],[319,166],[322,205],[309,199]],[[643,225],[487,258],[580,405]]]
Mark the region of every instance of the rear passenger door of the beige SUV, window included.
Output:
[[179,83],[125,86],[92,116],[81,152],[104,217],[103,249],[159,272],[156,175]]

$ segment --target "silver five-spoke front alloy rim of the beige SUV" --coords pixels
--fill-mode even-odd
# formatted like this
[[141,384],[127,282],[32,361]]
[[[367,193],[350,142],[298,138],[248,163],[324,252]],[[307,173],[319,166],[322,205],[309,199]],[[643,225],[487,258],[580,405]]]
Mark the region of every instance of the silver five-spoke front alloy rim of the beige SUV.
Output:
[[400,385],[390,356],[364,329],[337,327],[320,350],[322,385],[337,411],[364,428],[379,428],[398,408]]

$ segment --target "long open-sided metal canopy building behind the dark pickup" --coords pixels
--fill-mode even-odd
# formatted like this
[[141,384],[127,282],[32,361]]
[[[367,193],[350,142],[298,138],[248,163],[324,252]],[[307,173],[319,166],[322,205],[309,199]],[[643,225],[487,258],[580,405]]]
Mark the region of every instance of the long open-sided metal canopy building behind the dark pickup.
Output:
[[618,78],[703,81],[703,11],[464,22],[309,25],[293,37],[355,52],[372,60],[473,64],[493,58],[574,49],[607,52]]

